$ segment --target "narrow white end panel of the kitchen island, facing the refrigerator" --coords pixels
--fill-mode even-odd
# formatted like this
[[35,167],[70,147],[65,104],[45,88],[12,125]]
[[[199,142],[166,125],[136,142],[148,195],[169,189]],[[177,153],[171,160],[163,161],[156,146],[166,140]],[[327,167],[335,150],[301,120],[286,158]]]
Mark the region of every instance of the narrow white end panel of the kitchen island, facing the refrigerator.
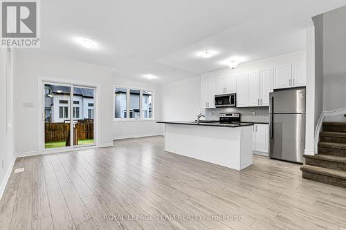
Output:
[[[240,170],[253,164],[253,126],[244,126],[240,136]],[[250,143],[250,144],[249,144]]]

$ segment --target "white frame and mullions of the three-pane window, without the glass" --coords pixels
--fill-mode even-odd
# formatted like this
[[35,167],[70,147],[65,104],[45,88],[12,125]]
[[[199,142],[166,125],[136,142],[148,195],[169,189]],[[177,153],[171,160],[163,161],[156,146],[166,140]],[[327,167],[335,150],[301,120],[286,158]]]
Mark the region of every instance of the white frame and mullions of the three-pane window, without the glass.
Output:
[[[126,118],[116,118],[116,104],[115,104],[115,95],[114,91],[116,88],[123,88],[126,89]],[[129,112],[130,112],[130,90],[139,90],[139,118],[129,118]],[[152,117],[151,118],[143,118],[143,91],[149,91],[152,93]],[[113,93],[112,93],[112,103],[113,103],[113,122],[148,122],[148,121],[154,121],[154,111],[155,111],[155,90],[149,89],[149,88],[138,88],[138,87],[130,87],[130,86],[119,86],[119,85],[113,85]]]

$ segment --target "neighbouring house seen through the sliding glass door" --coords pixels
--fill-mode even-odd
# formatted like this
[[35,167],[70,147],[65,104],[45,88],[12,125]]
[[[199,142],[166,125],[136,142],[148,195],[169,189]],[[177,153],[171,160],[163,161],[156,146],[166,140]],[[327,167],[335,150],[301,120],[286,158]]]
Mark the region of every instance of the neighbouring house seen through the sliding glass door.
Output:
[[[46,122],[64,122],[70,119],[70,92],[68,86],[44,86],[44,113]],[[94,90],[73,88],[73,119],[93,119]]]

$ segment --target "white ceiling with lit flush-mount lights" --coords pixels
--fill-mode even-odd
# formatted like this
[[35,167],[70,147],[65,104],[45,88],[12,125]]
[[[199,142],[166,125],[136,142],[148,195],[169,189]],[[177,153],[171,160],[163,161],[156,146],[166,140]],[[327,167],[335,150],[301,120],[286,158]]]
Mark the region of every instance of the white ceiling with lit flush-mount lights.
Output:
[[[172,82],[305,47],[311,17],[346,0],[44,0],[41,48],[60,57],[110,66],[121,77]],[[88,50],[73,37],[92,39]],[[215,50],[210,59],[196,56]]]

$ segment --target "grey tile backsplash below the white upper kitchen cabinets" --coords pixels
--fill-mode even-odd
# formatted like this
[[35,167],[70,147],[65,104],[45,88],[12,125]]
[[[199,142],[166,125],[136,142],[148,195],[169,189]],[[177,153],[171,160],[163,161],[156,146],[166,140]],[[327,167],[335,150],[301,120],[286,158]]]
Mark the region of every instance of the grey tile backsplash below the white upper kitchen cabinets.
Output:
[[[255,116],[252,113],[255,112]],[[269,122],[268,107],[253,107],[253,108],[207,108],[207,120],[219,120],[220,113],[240,113],[242,122]]]

